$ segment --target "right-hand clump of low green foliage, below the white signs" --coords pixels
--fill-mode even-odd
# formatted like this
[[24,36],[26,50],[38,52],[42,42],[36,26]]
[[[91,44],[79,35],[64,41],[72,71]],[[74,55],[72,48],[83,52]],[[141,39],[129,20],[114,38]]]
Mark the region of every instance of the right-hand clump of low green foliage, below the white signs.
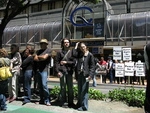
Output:
[[142,107],[145,100],[145,91],[143,89],[114,89],[109,91],[108,98],[111,101],[123,101],[129,106]]

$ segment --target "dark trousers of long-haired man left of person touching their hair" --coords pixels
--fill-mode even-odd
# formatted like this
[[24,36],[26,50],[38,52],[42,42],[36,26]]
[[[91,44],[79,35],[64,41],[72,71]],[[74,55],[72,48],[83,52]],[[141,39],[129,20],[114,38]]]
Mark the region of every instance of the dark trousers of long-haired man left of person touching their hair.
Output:
[[[68,91],[66,91],[66,87]],[[68,96],[68,98],[67,98]],[[68,104],[73,104],[73,77],[72,72],[63,74],[60,78],[60,101],[63,105],[68,100]]]

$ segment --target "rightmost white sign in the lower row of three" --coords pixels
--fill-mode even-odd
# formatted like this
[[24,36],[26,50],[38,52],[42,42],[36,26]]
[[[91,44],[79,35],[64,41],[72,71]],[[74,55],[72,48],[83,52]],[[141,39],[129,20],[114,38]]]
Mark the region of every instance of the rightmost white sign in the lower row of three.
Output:
[[135,63],[136,76],[145,76],[145,64],[143,62]]

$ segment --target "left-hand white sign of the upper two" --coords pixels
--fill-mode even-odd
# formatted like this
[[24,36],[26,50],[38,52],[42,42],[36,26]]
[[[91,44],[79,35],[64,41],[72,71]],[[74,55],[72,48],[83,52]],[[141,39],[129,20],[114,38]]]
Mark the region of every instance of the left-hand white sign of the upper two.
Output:
[[122,48],[121,47],[113,47],[113,59],[114,60],[122,59]]

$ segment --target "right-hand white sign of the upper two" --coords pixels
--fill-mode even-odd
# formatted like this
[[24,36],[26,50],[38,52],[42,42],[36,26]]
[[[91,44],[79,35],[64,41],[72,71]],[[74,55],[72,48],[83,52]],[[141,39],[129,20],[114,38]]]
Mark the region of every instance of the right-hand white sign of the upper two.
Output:
[[131,61],[132,60],[131,48],[122,48],[122,50],[123,50],[123,61]]

